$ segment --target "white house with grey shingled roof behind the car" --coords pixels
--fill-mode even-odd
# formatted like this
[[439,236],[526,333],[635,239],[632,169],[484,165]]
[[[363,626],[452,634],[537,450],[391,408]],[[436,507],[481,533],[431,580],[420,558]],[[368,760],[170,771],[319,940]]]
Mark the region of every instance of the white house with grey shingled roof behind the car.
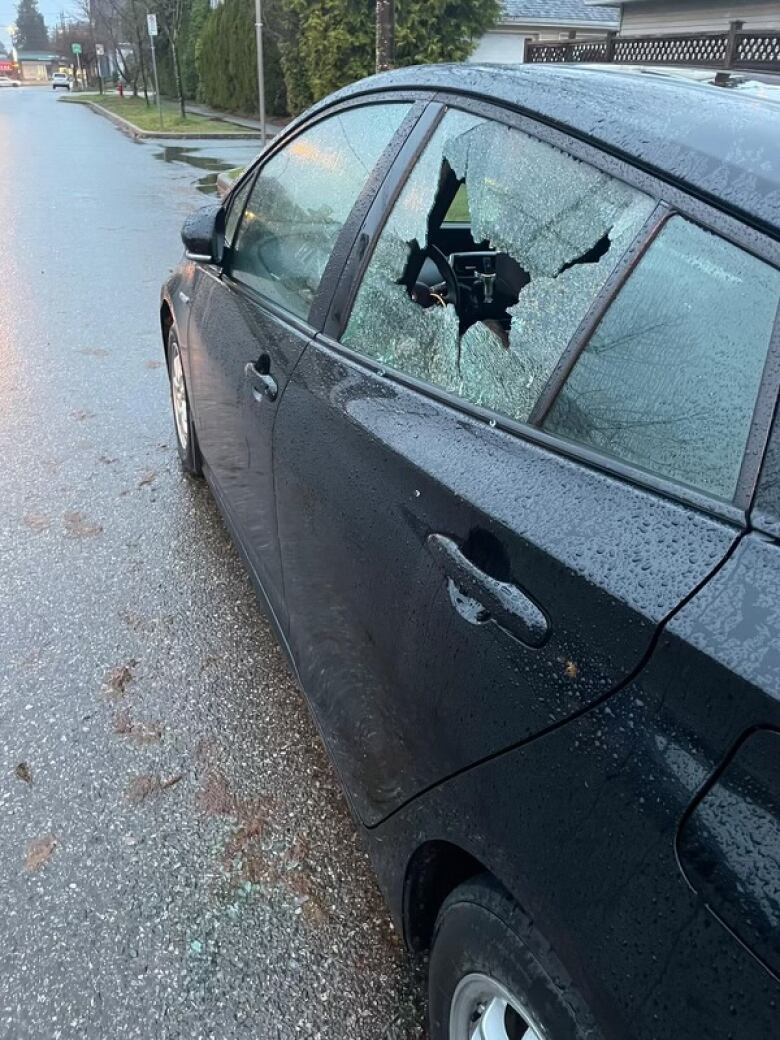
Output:
[[522,61],[526,41],[603,36],[619,25],[618,9],[587,0],[501,0],[498,24],[485,33],[469,60]]

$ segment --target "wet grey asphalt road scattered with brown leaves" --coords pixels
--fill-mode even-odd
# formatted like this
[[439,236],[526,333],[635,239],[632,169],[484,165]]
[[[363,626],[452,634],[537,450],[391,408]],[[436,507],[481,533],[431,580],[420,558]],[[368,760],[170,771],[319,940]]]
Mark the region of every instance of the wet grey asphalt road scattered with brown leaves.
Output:
[[210,159],[254,146],[163,151],[0,93],[0,1037],[417,1037],[334,773],[176,457],[159,285]]

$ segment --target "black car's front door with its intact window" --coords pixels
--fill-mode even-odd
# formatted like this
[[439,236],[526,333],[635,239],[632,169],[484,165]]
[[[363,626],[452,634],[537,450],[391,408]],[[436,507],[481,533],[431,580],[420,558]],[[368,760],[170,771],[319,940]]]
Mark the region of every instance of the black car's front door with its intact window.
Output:
[[[231,200],[222,268],[199,272],[188,324],[189,379],[207,473],[284,626],[271,432],[290,373],[316,326],[326,266],[408,101],[342,108],[274,151]],[[392,154],[392,149],[390,150]]]

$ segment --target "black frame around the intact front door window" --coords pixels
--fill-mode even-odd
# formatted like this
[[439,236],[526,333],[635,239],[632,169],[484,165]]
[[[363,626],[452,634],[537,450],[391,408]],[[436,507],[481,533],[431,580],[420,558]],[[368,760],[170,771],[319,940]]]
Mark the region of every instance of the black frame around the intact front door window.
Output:
[[304,116],[301,120],[296,120],[285,131],[278,134],[266,146],[264,151],[260,154],[260,156],[258,156],[249,170],[246,170],[238,181],[236,181],[236,183],[231,187],[228,197],[223,203],[227,219],[232,200],[235,199],[238,191],[249,184],[249,191],[243,201],[241,213],[238,217],[239,223],[234,236],[234,241],[238,237],[240,222],[243,218],[243,211],[246,207],[246,203],[252,197],[252,192],[255,189],[255,182],[257,181],[257,178],[262,174],[266,163],[278,155],[284,148],[292,144],[292,141],[301,136],[301,134],[311,130],[312,127],[317,124],[337,115],[339,112],[367,108],[372,105],[404,103],[408,103],[410,105],[409,111],[401,120],[396,132],[388,141],[385,151],[380,156],[376,165],[368,176],[368,179],[353,204],[349,214],[338,234],[324,270],[322,271],[322,277],[320,279],[316,295],[307,315],[301,316],[295,314],[286,307],[283,307],[277,301],[269,300],[257,289],[254,289],[245,282],[241,282],[239,279],[235,278],[231,269],[233,260],[233,243],[231,243],[231,245],[226,244],[225,253],[219,264],[219,278],[226,287],[237,293],[239,296],[245,296],[252,303],[294,328],[309,332],[319,331],[324,322],[331,297],[337,285],[338,276],[342,266],[342,262],[339,261],[338,258],[345,256],[352,251],[358,231],[365,219],[365,215],[374,198],[374,194],[392,168],[397,154],[404,147],[409,134],[414,130],[420,118],[423,115],[428,98],[430,92],[426,93],[422,90],[382,92],[368,98],[362,96],[358,98],[349,98],[348,100],[337,102],[323,108],[318,108],[310,116]]

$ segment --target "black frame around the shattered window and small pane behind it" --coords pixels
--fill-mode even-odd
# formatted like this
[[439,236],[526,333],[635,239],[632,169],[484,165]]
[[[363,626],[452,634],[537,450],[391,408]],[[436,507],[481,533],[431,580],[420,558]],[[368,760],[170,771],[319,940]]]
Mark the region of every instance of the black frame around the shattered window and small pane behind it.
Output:
[[[356,236],[356,245],[343,265],[343,272],[333,295],[331,307],[321,330],[323,345],[350,359],[391,382],[397,382],[416,390],[427,397],[442,401],[448,407],[465,413],[473,418],[483,419],[490,425],[501,428],[521,439],[539,444],[557,454],[563,454],[589,467],[609,473],[639,487],[646,488],[665,497],[687,504],[697,511],[712,514],[721,519],[747,525],[747,517],[755,496],[758,473],[769,441],[772,417],[780,394],[780,307],[775,329],[768,347],[766,359],[761,374],[761,382],[756,397],[753,418],[748,440],[743,452],[743,461],[734,498],[725,501],[716,498],[708,492],[698,491],[685,485],[667,479],[660,475],[649,473],[628,463],[609,459],[597,451],[565,441],[555,435],[540,428],[539,423],[544,414],[552,406],[560,393],[566,376],[573,368],[579,354],[586,348],[599,321],[606,313],[627,281],[633,268],[639,264],[645,252],[654,241],[666,222],[673,215],[680,215],[726,241],[755,256],[757,259],[780,268],[780,240],[762,231],[751,227],[742,216],[729,212],[728,208],[718,208],[708,201],[697,197],[691,190],[672,179],[664,179],[656,172],[651,172],[630,159],[605,148],[600,142],[591,144],[584,136],[577,136],[570,129],[562,129],[537,115],[503,105],[495,101],[458,94],[453,90],[440,90],[432,95],[428,108],[432,114],[418,124],[412,144],[407,140],[407,147],[400,149],[392,167],[382,185],[382,190],[370,206],[362,227]],[[601,290],[594,297],[589,311],[573,334],[564,355],[545,385],[537,407],[527,423],[519,422],[459,397],[441,387],[425,383],[407,373],[360,354],[343,344],[340,339],[346,328],[358,289],[363,281],[366,268],[371,261],[373,252],[392,208],[404,189],[417,159],[427,146],[439,123],[449,109],[457,109],[479,115],[519,130],[528,136],[557,148],[567,155],[579,159],[595,168],[615,177],[631,187],[643,191],[656,201],[656,207],[649,219],[640,230],[631,245],[621,258],[618,266],[607,278]],[[411,135],[410,135],[411,136]],[[544,400],[545,410],[537,414],[540,402]]]

